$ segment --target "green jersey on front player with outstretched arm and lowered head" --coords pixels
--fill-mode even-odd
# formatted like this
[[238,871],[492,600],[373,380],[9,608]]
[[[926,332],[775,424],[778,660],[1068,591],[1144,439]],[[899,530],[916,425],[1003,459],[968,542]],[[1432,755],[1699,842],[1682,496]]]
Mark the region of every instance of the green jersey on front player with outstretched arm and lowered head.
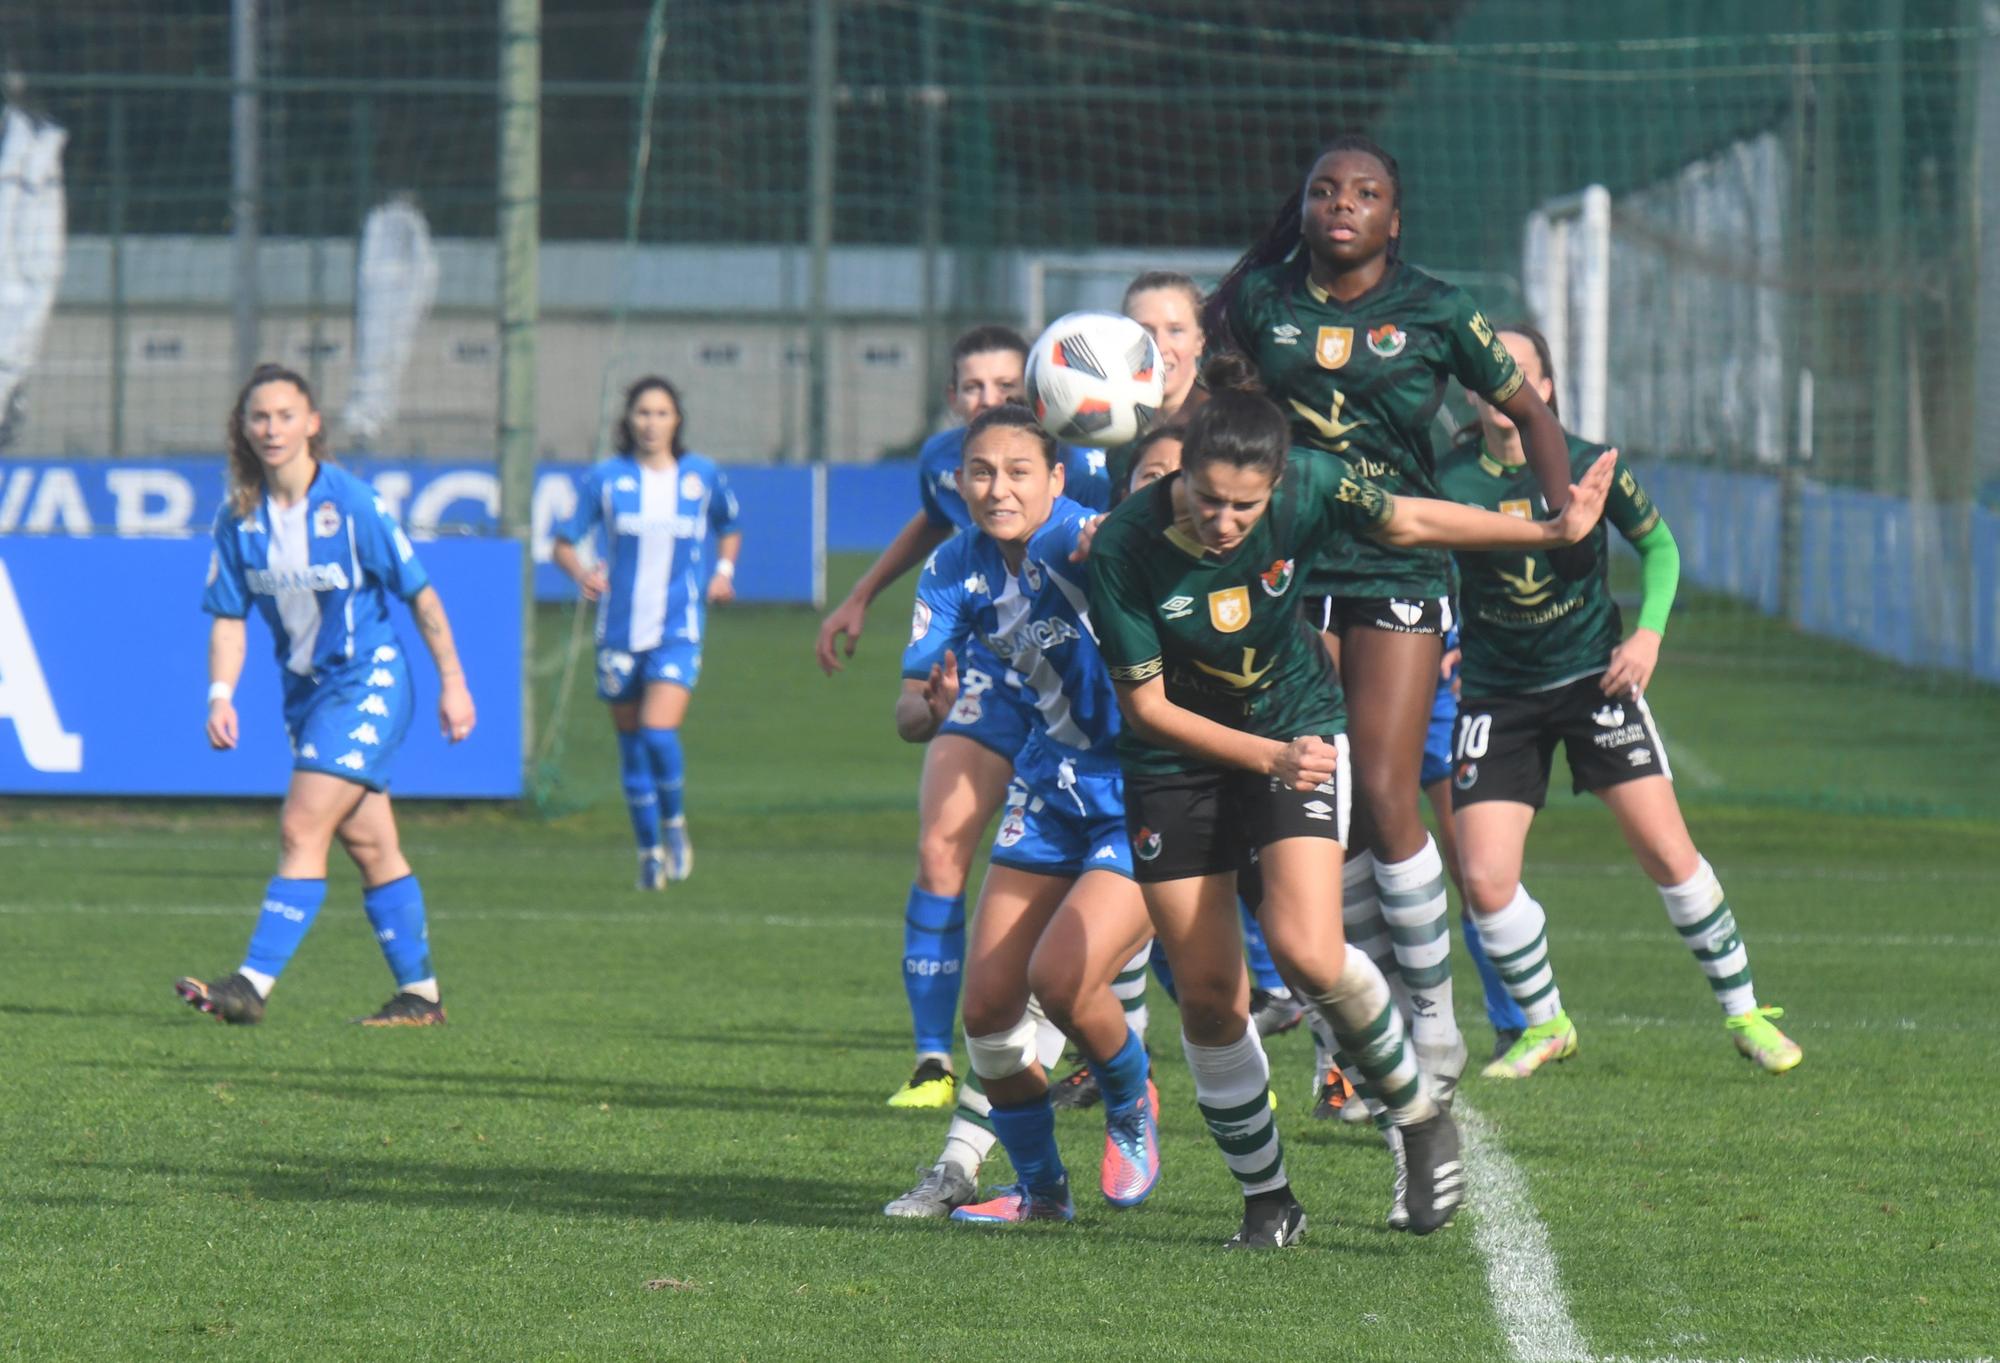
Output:
[[[1262,737],[1340,733],[1346,701],[1300,612],[1300,566],[1334,540],[1380,528],[1390,496],[1340,460],[1294,450],[1248,538],[1210,554],[1174,526],[1176,482],[1126,498],[1090,546],[1090,618],[1112,680],[1164,678],[1176,705]],[[1204,765],[1130,725],[1118,757],[1134,771]]]

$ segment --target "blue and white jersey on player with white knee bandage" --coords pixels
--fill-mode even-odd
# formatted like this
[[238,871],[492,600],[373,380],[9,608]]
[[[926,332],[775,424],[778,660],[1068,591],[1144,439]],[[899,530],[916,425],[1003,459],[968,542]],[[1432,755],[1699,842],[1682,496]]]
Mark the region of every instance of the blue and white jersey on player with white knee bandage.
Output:
[[976,640],[1020,678],[1036,729],[1062,747],[1108,755],[1118,737],[1118,697],[1090,626],[1082,566],[1070,562],[1092,516],[1056,498],[1018,572],[978,530],[944,542],[916,584],[902,676],[928,678],[946,650],[962,658],[964,644]]

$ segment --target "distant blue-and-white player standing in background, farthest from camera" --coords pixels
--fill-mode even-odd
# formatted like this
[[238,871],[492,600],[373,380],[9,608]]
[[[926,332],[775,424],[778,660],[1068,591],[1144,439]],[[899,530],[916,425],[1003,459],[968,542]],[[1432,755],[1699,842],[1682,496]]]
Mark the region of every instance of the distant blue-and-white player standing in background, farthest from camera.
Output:
[[[556,526],[554,560],[598,604],[598,697],[618,729],[618,769],[638,841],[638,887],[688,879],[680,725],[702,676],[710,602],[736,598],[736,494],[686,448],[680,394],[660,376],[626,390],[618,454],[592,466],[576,514]],[[604,532],[604,562],[576,554]]]

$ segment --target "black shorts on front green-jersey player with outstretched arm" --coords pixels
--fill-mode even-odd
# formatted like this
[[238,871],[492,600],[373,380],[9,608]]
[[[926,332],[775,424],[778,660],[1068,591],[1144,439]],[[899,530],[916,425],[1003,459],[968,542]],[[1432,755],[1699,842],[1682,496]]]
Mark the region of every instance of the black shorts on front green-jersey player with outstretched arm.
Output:
[[1286,837],[1348,841],[1348,735],[1334,779],[1310,791],[1234,767],[1200,771],[1128,771],[1126,831],[1132,875],[1142,885],[1190,875],[1238,871],[1250,853]]

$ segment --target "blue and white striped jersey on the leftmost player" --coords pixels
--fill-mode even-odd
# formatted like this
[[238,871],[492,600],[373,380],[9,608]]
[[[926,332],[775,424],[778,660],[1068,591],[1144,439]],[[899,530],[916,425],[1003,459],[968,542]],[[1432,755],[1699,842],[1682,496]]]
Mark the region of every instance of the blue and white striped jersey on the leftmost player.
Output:
[[256,606],[278,642],[286,683],[326,678],[396,644],[388,598],[408,602],[430,578],[374,488],[320,464],[290,508],[270,496],[250,516],[216,512],[202,610],[242,620]]

